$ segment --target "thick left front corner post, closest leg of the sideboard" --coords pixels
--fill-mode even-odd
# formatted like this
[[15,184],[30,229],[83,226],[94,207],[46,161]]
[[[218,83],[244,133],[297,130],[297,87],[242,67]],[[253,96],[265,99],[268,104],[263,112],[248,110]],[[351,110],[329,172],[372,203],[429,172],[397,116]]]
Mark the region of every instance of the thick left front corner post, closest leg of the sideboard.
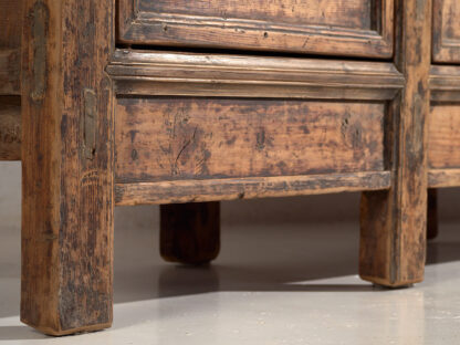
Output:
[[21,320],[112,323],[114,0],[25,0]]

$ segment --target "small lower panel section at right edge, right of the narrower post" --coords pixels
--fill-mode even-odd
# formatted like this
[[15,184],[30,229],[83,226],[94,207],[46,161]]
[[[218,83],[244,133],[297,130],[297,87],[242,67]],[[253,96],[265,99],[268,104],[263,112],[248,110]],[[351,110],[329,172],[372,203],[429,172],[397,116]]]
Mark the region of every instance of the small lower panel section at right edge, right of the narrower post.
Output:
[[431,169],[460,168],[460,104],[431,107],[428,163]]

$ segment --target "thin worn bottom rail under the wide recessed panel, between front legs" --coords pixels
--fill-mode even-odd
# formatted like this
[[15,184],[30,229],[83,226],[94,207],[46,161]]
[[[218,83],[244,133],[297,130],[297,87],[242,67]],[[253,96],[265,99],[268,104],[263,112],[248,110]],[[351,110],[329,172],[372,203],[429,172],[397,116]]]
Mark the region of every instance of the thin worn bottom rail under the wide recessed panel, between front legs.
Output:
[[390,187],[389,171],[116,184],[118,206],[294,197]]

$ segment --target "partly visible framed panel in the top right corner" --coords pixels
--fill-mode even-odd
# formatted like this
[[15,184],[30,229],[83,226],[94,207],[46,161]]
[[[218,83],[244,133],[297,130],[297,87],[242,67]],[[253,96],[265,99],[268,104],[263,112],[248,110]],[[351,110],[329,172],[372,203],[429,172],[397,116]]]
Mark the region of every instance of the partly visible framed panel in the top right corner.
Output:
[[435,62],[460,63],[460,3],[433,0],[432,56]]

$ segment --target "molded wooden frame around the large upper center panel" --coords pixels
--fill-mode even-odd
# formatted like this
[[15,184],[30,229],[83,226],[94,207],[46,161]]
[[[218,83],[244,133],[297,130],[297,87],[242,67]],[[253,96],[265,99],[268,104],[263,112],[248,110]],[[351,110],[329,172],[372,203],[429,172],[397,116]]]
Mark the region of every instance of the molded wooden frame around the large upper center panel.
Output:
[[143,9],[139,0],[119,0],[117,41],[389,59],[394,46],[394,0],[373,0],[372,7],[376,28],[359,30],[159,13]]

